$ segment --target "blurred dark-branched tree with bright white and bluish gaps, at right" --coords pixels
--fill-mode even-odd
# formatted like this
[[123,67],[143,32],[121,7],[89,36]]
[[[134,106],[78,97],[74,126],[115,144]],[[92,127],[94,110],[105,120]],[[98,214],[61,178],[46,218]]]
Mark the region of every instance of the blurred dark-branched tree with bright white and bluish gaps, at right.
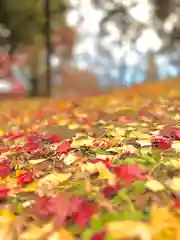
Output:
[[163,78],[165,65],[168,74],[177,74],[172,62],[180,60],[180,0],[69,0],[69,4],[69,23],[78,32],[74,59],[99,78],[103,72],[102,83],[107,66],[111,81],[116,78],[125,85],[156,75]]

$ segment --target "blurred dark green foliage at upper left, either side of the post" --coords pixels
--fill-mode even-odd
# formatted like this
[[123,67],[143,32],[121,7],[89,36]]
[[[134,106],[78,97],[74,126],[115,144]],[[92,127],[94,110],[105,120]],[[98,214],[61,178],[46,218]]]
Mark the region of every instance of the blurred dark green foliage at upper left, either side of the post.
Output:
[[[14,42],[31,43],[37,35],[44,34],[44,0],[5,0],[7,18],[2,19],[12,31]],[[61,1],[50,1],[51,23],[64,23],[65,5]],[[4,14],[0,8],[0,15]],[[8,20],[8,22],[7,22]]]

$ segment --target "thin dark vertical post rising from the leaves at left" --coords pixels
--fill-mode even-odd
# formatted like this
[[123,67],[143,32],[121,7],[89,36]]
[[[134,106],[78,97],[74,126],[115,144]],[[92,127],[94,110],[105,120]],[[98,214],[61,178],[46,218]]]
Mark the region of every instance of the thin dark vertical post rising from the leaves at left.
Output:
[[45,15],[45,45],[46,45],[46,96],[51,96],[51,14],[50,14],[50,1],[44,0],[44,15]]

